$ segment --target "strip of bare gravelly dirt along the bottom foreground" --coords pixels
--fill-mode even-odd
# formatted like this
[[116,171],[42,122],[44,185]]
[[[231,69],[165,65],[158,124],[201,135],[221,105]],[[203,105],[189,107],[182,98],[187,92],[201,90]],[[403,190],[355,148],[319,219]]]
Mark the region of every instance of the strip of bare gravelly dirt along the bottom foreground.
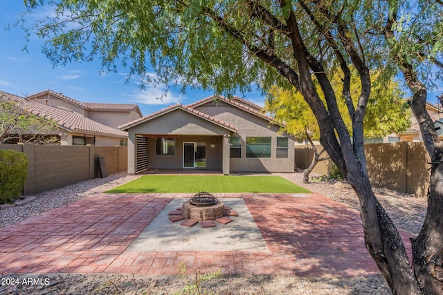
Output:
[[[381,276],[298,278],[296,276],[133,276],[122,274],[23,274],[2,276],[0,294],[390,294]],[[3,281],[6,283],[6,281]],[[199,285],[197,293],[197,285]],[[195,292],[194,292],[195,291]]]

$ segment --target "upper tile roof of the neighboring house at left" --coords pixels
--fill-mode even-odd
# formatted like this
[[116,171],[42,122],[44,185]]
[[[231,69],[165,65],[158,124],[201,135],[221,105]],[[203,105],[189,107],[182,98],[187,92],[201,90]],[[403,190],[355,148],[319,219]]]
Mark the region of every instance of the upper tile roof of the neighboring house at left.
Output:
[[80,106],[80,108],[84,108],[87,111],[119,111],[119,112],[129,112],[129,111],[137,111],[140,116],[142,113],[140,108],[138,108],[137,104],[108,104],[108,103],[98,103],[98,102],[79,102],[71,97],[67,97],[62,93],[57,93],[55,91],[51,91],[49,89],[45,91],[40,91],[39,93],[35,93],[33,95],[29,95],[26,97],[27,99],[33,99],[37,97],[41,97],[42,95],[53,95],[59,99],[62,99],[66,102],[74,104],[75,106]]

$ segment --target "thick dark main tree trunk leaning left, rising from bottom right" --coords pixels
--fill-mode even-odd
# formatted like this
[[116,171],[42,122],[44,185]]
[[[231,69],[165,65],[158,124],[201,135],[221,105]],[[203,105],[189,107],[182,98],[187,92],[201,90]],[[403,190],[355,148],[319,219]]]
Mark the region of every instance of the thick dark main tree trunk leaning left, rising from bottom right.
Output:
[[[284,6],[284,3],[282,1],[281,5]],[[290,29],[294,57],[298,62],[300,90],[316,115],[320,127],[320,142],[340,171],[344,172],[343,176],[347,178],[359,198],[366,248],[394,294],[419,294],[420,289],[410,268],[399,232],[375,198],[368,174],[361,166],[365,162],[364,159],[362,159],[363,161],[359,159],[359,157],[364,157],[364,151],[360,149],[363,146],[353,146],[350,133],[341,120],[336,104],[334,104],[334,93],[325,93],[326,101],[331,102],[326,113],[323,103],[320,102],[311,80],[311,71],[307,65],[307,51],[298,30],[296,16],[292,11],[289,13],[287,26]],[[325,86],[325,88],[327,87]],[[324,117],[321,115],[322,113],[325,113]],[[328,123],[329,126],[327,126]],[[363,125],[359,124],[358,128],[361,130],[357,131],[363,134]],[[332,129],[331,133],[327,132],[329,129]],[[336,133],[334,133],[334,129]],[[338,135],[340,144],[336,140],[336,135]],[[331,137],[334,137],[334,140],[331,140]],[[363,144],[363,141],[357,141],[355,144]]]

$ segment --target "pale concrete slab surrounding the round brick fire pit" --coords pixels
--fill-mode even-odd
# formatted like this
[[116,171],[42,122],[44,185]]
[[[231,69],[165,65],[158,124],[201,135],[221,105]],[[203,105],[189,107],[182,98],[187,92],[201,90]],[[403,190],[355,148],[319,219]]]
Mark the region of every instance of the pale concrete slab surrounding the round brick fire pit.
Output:
[[233,222],[217,227],[183,227],[171,222],[170,211],[184,198],[167,204],[126,251],[269,251],[242,198],[219,198],[238,213]]

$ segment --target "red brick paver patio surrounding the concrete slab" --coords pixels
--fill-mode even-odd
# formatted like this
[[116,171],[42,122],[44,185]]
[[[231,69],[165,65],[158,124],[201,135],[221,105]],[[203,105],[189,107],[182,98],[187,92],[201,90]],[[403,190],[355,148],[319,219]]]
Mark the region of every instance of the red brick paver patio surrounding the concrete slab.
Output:
[[[100,193],[0,231],[0,273],[359,276],[378,273],[359,212],[316,193],[234,193],[243,198],[269,251],[125,251],[172,198],[187,194]],[[408,235],[406,249],[410,249]]]

